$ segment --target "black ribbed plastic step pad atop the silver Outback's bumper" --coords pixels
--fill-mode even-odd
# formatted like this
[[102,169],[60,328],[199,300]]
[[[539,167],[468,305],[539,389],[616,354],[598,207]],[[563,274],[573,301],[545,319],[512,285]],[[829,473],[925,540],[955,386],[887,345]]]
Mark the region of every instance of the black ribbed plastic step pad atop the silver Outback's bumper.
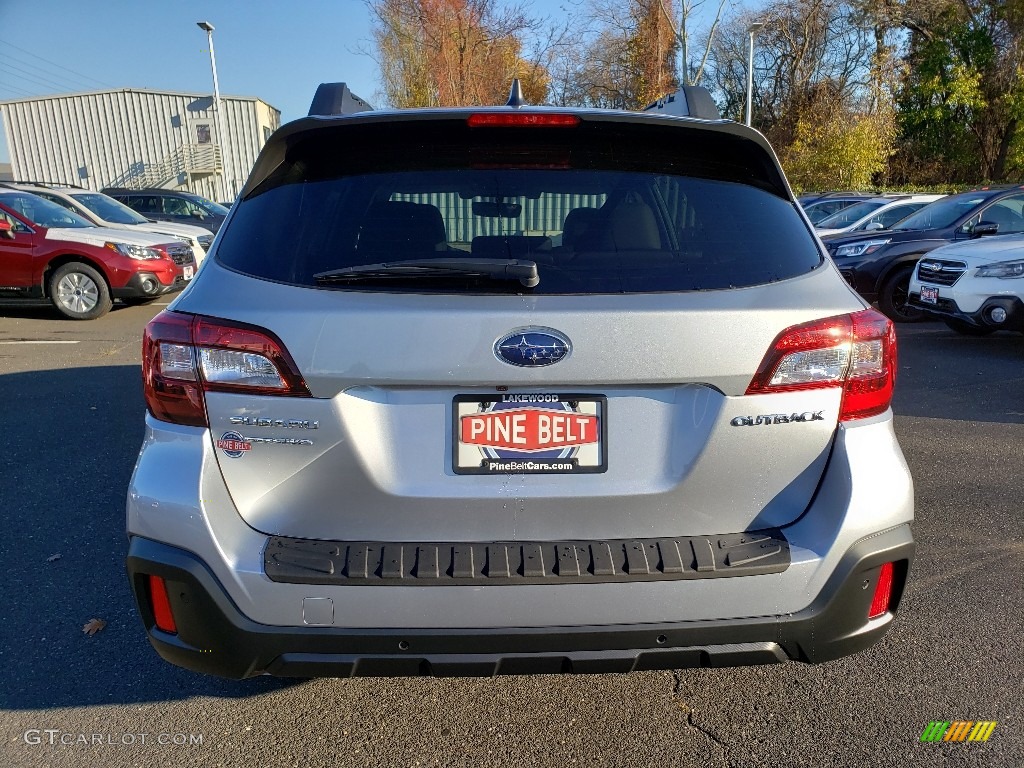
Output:
[[777,528],[709,537],[601,542],[324,542],[271,537],[263,553],[285,584],[447,587],[599,584],[781,573],[790,543]]

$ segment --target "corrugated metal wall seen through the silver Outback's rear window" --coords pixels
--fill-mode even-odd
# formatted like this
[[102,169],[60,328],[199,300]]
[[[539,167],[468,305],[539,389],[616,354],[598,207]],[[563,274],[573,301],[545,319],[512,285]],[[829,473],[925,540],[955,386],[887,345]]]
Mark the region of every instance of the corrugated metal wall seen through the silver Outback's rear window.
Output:
[[573,208],[600,208],[605,195],[542,195],[529,198],[506,198],[506,202],[522,205],[517,218],[490,218],[473,215],[473,201],[463,200],[456,193],[424,195],[393,195],[393,200],[427,203],[440,209],[449,242],[472,243],[479,234],[557,234],[562,230],[566,214]]

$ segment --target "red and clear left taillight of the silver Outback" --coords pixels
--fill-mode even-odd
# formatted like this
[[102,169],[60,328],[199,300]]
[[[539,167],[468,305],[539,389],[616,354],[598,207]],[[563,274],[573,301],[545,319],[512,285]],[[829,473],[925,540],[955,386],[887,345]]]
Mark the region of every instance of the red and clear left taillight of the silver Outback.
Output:
[[142,386],[161,421],[207,426],[205,392],[309,397],[281,340],[242,323],[163,311],[142,336]]

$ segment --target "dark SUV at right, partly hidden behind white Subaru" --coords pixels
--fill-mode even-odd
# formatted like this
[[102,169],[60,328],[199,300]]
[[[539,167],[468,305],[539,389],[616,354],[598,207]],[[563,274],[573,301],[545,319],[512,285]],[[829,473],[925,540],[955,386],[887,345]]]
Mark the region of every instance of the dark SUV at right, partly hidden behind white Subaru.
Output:
[[918,259],[939,246],[985,234],[1024,231],[1024,186],[985,186],[951,195],[882,232],[822,241],[846,281],[897,323],[924,317],[907,305]]

